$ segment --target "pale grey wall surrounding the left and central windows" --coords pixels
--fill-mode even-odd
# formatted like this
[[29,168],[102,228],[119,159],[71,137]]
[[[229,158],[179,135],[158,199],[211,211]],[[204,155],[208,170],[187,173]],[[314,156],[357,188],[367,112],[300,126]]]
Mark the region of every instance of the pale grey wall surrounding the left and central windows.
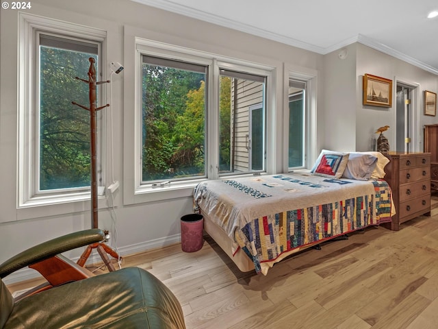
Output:
[[[131,1],[120,0],[34,0],[28,14],[35,14],[69,23],[96,27],[107,31],[107,61],[117,61],[129,66],[131,56],[125,53],[124,30],[138,31],[142,38],[149,38],[172,45],[179,45],[217,53],[222,56],[268,64],[276,67],[279,91],[274,115],[275,138],[280,158],[283,147],[283,63],[311,71],[322,70],[322,56],[296,49],[279,42],[218,27],[189,19],[170,12],[149,8]],[[281,10],[281,8],[279,8]],[[0,11],[0,263],[27,247],[69,232],[90,228],[89,202],[58,204],[17,209],[16,207],[16,145],[17,145],[17,67],[18,67],[18,12]],[[179,241],[179,218],[192,212],[192,198],[175,193],[172,199],[125,206],[123,204],[124,154],[124,95],[133,95],[133,75],[129,70],[113,79],[114,108],[114,175],[121,187],[116,191],[117,246],[120,254],[132,254],[144,249],[159,247]],[[108,87],[107,87],[108,88]],[[128,102],[129,103],[129,102]],[[318,101],[318,103],[322,103]],[[320,141],[317,141],[320,143]],[[126,147],[126,146],[125,146]],[[107,159],[109,160],[109,159]],[[152,199],[151,199],[152,200]],[[99,226],[112,230],[112,210],[105,208],[105,199],[99,200]],[[112,230],[114,236],[114,230]],[[114,239],[112,239],[114,243]],[[110,243],[110,244],[112,244]],[[77,257],[83,250],[66,254]],[[99,259],[92,256],[90,259]],[[28,278],[29,272],[10,277],[9,282]],[[8,280],[7,280],[8,282]]]

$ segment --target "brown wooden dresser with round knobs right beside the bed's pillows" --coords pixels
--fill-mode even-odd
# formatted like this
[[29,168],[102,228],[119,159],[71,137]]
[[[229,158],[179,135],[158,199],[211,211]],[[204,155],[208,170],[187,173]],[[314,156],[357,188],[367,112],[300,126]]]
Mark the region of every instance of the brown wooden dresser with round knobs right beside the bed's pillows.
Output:
[[430,153],[389,152],[385,180],[391,186],[396,215],[391,230],[420,215],[430,216]]

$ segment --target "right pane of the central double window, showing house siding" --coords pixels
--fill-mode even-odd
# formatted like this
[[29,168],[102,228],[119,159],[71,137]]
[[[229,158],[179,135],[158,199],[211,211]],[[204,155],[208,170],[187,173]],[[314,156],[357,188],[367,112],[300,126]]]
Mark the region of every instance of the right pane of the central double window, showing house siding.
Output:
[[265,170],[265,80],[220,69],[221,175]]

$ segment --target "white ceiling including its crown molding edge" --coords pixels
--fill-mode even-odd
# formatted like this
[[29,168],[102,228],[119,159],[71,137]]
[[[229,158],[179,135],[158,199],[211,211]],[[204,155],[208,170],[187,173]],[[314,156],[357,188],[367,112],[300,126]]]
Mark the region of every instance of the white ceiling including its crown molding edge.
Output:
[[437,0],[133,0],[316,53],[353,42],[438,75]]

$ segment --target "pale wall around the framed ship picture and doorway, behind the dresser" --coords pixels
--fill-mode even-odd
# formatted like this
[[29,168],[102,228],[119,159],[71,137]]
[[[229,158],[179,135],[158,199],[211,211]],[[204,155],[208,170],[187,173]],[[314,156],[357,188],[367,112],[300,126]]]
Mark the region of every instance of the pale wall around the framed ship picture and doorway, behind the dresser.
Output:
[[[438,117],[425,116],[424,90],[437,92],[438,77],[407,62],[360,43],[345,48],[347,58],[339,58],[339,50],[324,56],[324,95],[318,112],[324,116],[325,138],[321,148],[339,151],[370,151],[376,129],[383,125],[390,146],[396,141],[396,81],[417,86],[413,102],[415,115],[414,151],[423,151],[423,126],[437,123]],[[362,79],[365,73],[393,80],[391,108],[363,106]],[[392,149],[391,151],[396,151]]]

